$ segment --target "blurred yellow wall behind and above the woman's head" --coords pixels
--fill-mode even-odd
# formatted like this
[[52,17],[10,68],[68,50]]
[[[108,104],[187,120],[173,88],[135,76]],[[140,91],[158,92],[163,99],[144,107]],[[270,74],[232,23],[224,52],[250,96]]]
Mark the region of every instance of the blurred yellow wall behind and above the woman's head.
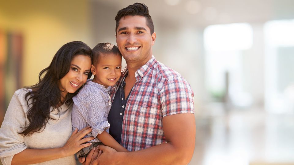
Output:
[[63,44],[80,40],[92,47],[89,7],[87,0],[1,0],[0,30],[24,37],[23,86],[38,82]]

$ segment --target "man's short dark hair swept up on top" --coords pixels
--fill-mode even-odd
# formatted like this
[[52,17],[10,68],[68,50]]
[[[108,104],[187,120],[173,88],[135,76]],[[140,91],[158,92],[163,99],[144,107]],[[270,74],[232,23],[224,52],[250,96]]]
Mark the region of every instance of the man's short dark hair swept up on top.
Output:
[[150,29],[151,35],[154,33],[154,25],[149,15],[149,9],[144,3],[134,3],[133,5],[129,5],[126,8],[123,8],[117,12],[115,16],[116,26],[115,26],[115,35],[117,28],[119,27],[119,20],[125,16],[144,16],[146,18],[146,24]]

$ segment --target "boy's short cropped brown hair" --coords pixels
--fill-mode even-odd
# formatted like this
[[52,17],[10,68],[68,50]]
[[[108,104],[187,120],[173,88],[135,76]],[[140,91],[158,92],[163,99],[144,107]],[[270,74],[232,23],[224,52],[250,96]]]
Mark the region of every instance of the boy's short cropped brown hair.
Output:
[[122,56],[119,48],[109,42],[99,43],[92,49],[92,64],[96,65],[99,62],[100,55],[103,54],[116,54]]

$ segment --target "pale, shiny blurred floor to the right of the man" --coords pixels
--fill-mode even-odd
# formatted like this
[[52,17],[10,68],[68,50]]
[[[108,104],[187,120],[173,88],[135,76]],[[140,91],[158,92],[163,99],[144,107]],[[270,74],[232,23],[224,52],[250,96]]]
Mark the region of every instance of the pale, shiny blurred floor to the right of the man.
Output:
[[268,114],[261,108],[207,111],[196,117],[190,165],[294,165],[293,114]]

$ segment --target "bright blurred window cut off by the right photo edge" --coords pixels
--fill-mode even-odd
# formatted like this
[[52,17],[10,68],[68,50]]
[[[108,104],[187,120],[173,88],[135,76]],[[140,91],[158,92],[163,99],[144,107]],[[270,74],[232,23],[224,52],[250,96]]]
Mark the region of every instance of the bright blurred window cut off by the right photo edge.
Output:
[[294,112],[294,20],[264,25],[265,108],[274,113]]

